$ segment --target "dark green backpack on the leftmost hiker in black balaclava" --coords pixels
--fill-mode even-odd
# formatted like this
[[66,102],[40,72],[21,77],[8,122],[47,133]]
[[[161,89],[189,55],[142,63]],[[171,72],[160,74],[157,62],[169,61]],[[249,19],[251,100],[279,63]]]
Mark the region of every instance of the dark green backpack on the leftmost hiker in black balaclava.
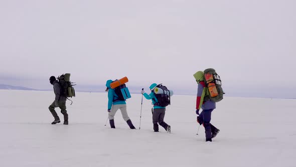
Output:
[[75,85],[70,81],[70,75],[70,73],[65,73],[58,77],[58,83],[61,86],[60,96],[66,97],[67,99],[75,97],[75,90],[73,88]]

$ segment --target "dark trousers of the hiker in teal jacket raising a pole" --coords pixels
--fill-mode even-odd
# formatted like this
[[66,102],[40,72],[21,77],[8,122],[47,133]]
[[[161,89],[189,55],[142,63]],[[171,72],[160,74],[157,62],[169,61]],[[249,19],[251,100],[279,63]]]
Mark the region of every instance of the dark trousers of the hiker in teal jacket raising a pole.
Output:
[[153,109],[152,121],[154,131],[158,131],[158,123],[164,127],[166,130],[168,129],[168,124],[164,121],[166,114],[166,109]]

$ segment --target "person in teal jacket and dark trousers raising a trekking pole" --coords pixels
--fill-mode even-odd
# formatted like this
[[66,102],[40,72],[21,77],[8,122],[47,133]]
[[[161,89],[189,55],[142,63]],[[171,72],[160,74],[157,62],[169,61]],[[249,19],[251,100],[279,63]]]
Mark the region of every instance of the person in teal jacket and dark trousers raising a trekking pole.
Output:
[[155,97],[155,93],[153,92],[157,84],[152,84],[149,88],[151,90],[151,93],[148,95],[143,90],[141,91],[141,94],[147,99],[152,100],[153,104],[153,114],[152,114],[152,120],[153,120],[153,129],[155,132],[159,132],[159,126],[158,123],[166,129],[167,132],[171,133],[171,126],[168,125],[164,119],[166,114],[166,107],[158,106],[158,100]]

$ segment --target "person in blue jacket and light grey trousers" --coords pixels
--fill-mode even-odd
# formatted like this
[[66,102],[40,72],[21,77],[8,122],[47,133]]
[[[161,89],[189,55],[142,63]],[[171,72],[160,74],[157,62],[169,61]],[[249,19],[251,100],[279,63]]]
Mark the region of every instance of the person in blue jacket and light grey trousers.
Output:
[[118,96],[116,95],[114,89],[111,89],[110,84],[112,83],[112,80],[107,80],[106,82],[106,91],[108,92],[108,119],[110,122],[110,127],[115,128],[114,124],[114,116],[116,114],[116,111],[119,109],[121,111],[121,115],[126,121],[127,125],[130,129],[135,129],[133,126],[131,120],[129,119],[126,111],[126,103],[125,100],[118,100]]

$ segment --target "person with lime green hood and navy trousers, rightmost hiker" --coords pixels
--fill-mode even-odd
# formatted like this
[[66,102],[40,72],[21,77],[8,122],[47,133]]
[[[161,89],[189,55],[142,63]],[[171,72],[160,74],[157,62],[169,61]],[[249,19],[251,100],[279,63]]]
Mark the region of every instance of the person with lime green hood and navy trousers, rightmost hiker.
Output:
[[[206,96],[207,88],[205,84],[204,72],[197,71],[193,76],[198,84],[195,111],[198,115],[197,122],[200,125],[203,124],[205,127],[206,141],[212,141],[212,138],[214,138],[220,131],[210,123],[212,111],[216,109],[216,103],[211,101],[209,97]],[[199,113],[201,108],[203,111]]]

